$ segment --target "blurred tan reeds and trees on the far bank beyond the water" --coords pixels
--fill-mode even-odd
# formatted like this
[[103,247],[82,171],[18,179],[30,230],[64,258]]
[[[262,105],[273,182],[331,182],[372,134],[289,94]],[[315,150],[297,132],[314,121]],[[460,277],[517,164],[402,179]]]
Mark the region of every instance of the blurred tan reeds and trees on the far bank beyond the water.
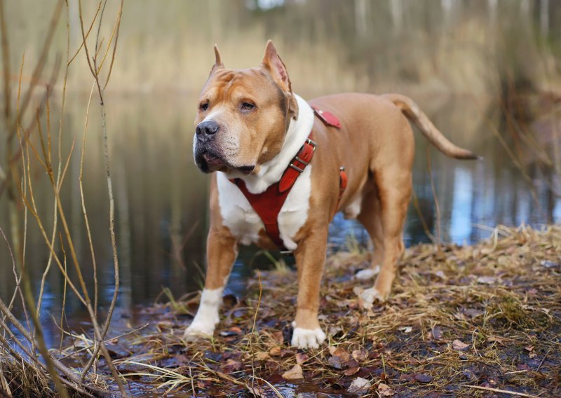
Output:
[[[108,9],[118,7],[111,3]],[[24,51],[28,65],[38,57],[54,5],[53,0],[6,4],[13,70]],[[77,48],[77,1],[69,5]],[[93,16],[97,3],[84,2],[83,9]],[[116,92],[197,91],[208,76],[214,43],[231,66],[251,67],[267,38],[290,65],[295,85],[310,95],[407,90],[495,99],[509,80],[528,90],[559,83],[557,1],[139,0],[126,3],[125,10]],[[60,53],[65,29],[61,21],[53,48]],[[72,90],[88,90],[81,84],[89,77],[84,68],[72,75],[77,80]]]

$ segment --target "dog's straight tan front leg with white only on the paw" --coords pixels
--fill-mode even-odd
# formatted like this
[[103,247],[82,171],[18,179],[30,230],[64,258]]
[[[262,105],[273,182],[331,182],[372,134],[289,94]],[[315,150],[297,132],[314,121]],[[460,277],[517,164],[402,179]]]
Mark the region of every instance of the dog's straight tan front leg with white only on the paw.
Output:
[[297,348],[319,348],[325,340],[320,328],[318,310],[320,283],[325,266],[327,227],[306,237],[295,250],[298,268],[298,299],[292,345]]

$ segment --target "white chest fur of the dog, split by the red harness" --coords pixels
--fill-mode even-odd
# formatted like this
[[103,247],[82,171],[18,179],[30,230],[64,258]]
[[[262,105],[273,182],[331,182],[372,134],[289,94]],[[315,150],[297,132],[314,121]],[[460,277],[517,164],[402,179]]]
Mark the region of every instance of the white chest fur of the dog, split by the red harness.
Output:
[[[253,210],[238,186],[231,183],[222,172],[218,172],[217,186],[224,226],[230,229],[242,245],[257,243],[259,231],[264,230],[259,215]],[[278,214],[280,238],[289,250],[296,249],[297,244],[293,239],[308,219],[310,195],[311,166],[308,166],[292,186]]]

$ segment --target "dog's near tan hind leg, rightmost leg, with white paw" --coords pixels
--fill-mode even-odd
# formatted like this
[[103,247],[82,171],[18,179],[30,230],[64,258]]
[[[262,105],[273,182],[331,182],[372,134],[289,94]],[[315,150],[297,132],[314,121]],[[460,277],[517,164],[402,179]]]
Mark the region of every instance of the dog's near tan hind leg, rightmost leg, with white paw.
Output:
[[400,164],[374,171],[374,181],[377,186],[381,221],[381,234],[379,229],[375,229],[374,236],[378,246],[381,244],[381,268],[374,286],[362,293],[365,303],[372,303],[374,300],[385,301],[391,291],[393,278],[396,277],[397,261],[404,250],[403,224],[412,190],[410,168]]

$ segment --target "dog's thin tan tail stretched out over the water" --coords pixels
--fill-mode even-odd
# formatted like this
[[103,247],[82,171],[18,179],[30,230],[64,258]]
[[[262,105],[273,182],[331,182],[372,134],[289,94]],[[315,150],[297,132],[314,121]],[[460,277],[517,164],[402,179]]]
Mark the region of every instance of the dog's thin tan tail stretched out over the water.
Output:
[[452,144],[438,128],[435,128],[435,125],[428,119],[426,114],[419,109],[419,105],[415,104],[410,97],[393,93],[384,94],[381,95],[381,97],[387,98],[393,102],[393,104],[396,104],[396,107],[401,109],[403,114],[421,130],[428,141],[446,156],[456,159],[479,158],[475,153]]

